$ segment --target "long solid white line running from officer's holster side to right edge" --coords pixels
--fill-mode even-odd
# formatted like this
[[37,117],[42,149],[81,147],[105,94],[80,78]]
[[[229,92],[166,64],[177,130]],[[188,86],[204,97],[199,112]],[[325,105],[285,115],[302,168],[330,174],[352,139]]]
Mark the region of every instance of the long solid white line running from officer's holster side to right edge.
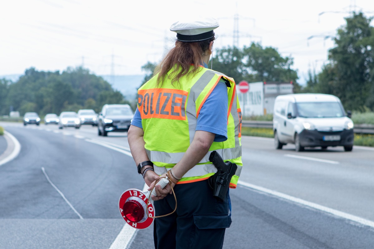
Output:
[[335,210],[335,209],[332,209],[332,208],[328,208],[326,206],[322,206],[322,205],[319,205],[319,204],[316,204],[316,203],[313,203],[313,202],[308,202],[307,200],[303,200],[303,199],[299,199],[299,198],[296,198],[296,197],[293,197],[293,196],[289,196],[288,194],[283,194],[283,193],[280,193],[280,192],[277,192],[277,191],[274,191],[274,190],[266,189],[264,187],[260,187],[260,186],[256,186],[256,185],[253,185],[253,184],[250,184],[250,183],[246,183],[244,181],[238,181],[238,184],[240,184],[242,186],[245,186],[245,187],[248,187],[248,188],[251,188],[251,189],[258,190],[260,192],[271,194],[273,196],[277,196],[277,197],[280,197],[282,199],[289,200],[291,202],[299,203],[299,204],[302,204],[304,206],[308,206],[310,208],[314,208],[314,209],[317,209],[317,210],[320,210],[320,211],[324,211],[324,212],[327,212],[329,214],[333,214],[333,215],[336,215],[338,217],[341,217],[341,218],[344,218],[344,219],[347,219],[347,220],[351,220],[351,221],[355,221],[355,222],[358,222],[362,225],[367,225],[369,227],[374,228],[374,221],[366,220],[364,218],[361,218],[361,217],[358,217],[358,216],[355,216],[355,215],[352,215],[352,214],[347,214],[345,212],[341,212],[341,211],[338,211],[338,210]]

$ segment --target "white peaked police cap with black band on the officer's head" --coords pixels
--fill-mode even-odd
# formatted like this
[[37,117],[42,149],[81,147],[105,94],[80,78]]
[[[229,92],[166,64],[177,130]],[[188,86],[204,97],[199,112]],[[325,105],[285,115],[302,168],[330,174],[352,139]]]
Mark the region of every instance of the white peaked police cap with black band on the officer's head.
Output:
[[204,41],[214,37],[213,30],[220,25],[214,18],[197,21],[178,21],[171,25],[170,30],[177,33],[177,40],[184,42]]

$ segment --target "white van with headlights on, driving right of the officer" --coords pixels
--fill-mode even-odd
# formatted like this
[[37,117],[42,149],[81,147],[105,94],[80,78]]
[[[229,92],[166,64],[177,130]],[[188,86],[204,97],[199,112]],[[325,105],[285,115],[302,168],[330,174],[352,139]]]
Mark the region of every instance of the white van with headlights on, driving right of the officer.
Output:
[[282,149],[295,144],[304,147],[344,146],[353,148],[353,122],[340,99],[329,94],[286,94],[276,97],[273,112],[274,145]]

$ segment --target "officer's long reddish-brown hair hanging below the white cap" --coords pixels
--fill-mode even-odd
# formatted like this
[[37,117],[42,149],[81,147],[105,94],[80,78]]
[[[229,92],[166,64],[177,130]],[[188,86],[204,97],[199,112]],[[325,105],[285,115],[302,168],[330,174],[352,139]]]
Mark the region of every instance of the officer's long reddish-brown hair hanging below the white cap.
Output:
[[[173,83],[179,83],[181,77],[196,74],[203,63],[203,53],[209,49],[209,43],[214,39],[213,37],[209,40],[191,43],[177,40],[175,47],[169,51],[154,71],[154,74],[159,73],[157,86],[162,85],[165,77],[171,79],[171,84],[174,85]],[[192,70],[190,70],[191,66],[193,66]],[[172,71],[168,75],[170,70]]]

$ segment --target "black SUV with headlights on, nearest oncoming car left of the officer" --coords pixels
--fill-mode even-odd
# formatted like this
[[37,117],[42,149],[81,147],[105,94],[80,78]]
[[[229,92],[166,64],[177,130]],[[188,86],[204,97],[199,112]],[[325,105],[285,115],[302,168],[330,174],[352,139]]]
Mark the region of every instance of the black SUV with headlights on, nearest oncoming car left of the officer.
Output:
[[108,132],[129,130],[134,112],[129,105],[104,105],[98,118],[98,135],[108,136]]

